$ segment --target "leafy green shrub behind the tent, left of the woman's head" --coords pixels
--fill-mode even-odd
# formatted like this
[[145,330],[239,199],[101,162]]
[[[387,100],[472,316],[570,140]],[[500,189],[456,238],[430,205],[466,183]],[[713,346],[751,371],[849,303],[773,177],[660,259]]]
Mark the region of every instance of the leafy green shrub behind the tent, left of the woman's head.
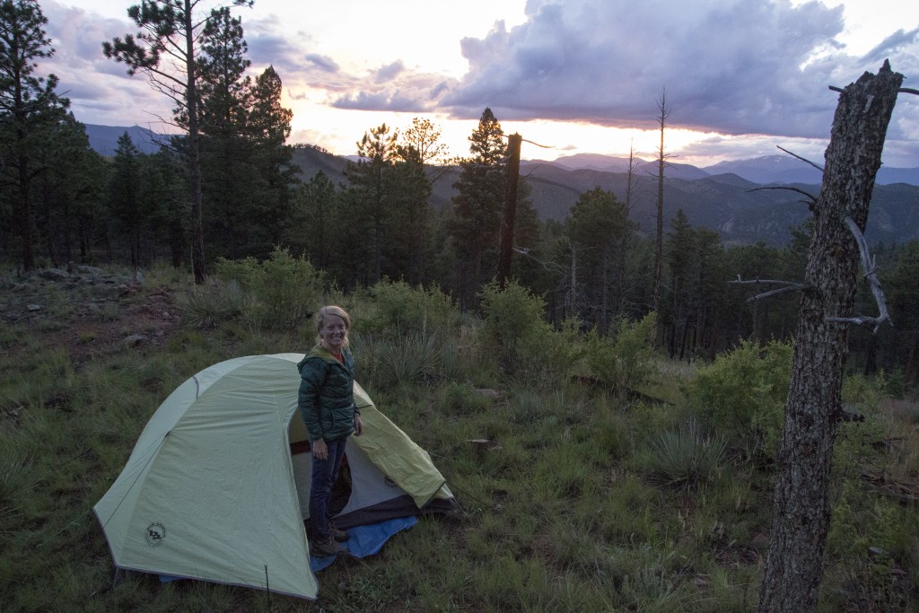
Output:
[[253,323],[273,330],[296,330],[322,306],[324,273],[304,257],[275,247],[269,259],[219,259],[217,274],[233,279],[255,298]]

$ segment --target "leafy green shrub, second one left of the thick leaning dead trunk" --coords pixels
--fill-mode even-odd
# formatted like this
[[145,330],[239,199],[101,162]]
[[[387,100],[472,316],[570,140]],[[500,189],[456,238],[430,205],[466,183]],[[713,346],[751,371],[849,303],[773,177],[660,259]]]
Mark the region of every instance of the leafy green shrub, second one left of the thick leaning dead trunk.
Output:
[[587,334],[584,361],[590,374],[616,390],[620,399],[644,385],[656,372],[654,361],[654,313],[641,321],[622,322],[613,336],[596,330]]

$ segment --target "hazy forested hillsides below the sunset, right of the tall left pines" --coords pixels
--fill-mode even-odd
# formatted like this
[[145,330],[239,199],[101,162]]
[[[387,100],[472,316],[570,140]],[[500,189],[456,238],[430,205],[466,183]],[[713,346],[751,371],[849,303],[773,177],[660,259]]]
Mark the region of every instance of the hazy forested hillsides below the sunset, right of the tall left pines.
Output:
[[[345,182],[343,157],[312,147],[296,150],[295,162],[301,167],[305,180],[320,170],[335,184]],[[726,166],[721,166],[725,168]],[[814,170],[816,172],[816,170]],[[542,219],[563,221],[584,191],[601,187],[625,198],[627,175],[591,168],[566,168],[544,161],[523,161],[521,176],[532,187],[531,200]],[[686,169],[681,174],[686,174]],[[453,184],[459,170],[437,176],[431,195],[432,205],[440,208],[455,193]],[[670,220],[682,209],[690,223],[711,228],[720,233],[726,244],[786,244],[791,239],[789,228],[808,219],[803,197],[781,188],[759,189],[762,184],[733,173],[707,175],[701,178],[668,176],[664,181],[664,218]],[[771,187],[780,187],[773,185]],[[817,183],[792,183],[816,196]],[[631,218],[638,221],[642,232],[654,227],[657,202],[657,179],[648,172],[637,174],[637,188],[631,202]],[[877,185],[868,219],[868,241],[871,244],[904,243],[919,239],[919,187],[905,183]]]

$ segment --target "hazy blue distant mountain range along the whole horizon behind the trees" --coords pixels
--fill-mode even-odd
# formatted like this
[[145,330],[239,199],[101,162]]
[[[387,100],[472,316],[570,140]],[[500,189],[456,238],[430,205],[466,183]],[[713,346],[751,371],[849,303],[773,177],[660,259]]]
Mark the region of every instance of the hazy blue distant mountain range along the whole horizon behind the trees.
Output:
[[[141,151],[149,153],[158,148],[153,132],[138,126],[86,126],[90,145],[107,155],[114,153],[115,143],[125,131]],[[347,159],[343,156],[301,146],[295,149],[294,162],[300,166],[304,180],[322,171],[335,184],[345,183]],[[822,164],[823,160],[813,162]],[[523,161],[520,173],[532,187],[531,200],[540,217],[562,221],[580,195],[594,187],[612,191],[623,200],[628,165],[625,158],[582,153],[553,161]],[[630,203],[630,216],[639,222],[642,232],[651,232],[654,227],[656,175],[656,164],[647,161],[641,161],[635,173],[637,186]],[[791,238],[789,228],[800,225],[810,212],[800,193],[783,187],[795,187],[817,196],[821,184],[820,171],[783,155],[721,162],[706,168],[668,164],[664,176],[665,220],[669,221],[682,209],[691,224],[716,230],[725,244],[757,241],[787,244]],[[431,195],[433,206],[439,208],[448,203],[458,179],[457,169],[437,175]],[[868,242],[901,244],[919,240],[917,213],[919,168],[882,166],[868,218]]]

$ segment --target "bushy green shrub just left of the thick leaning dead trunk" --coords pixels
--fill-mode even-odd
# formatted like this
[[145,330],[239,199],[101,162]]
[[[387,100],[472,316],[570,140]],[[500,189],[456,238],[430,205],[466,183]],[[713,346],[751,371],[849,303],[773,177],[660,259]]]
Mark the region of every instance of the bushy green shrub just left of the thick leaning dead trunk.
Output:
[[792,347],[744,341],[698,370],[684,391],[703,426],[717,427],[750,455],[775,458],[791,380]]

